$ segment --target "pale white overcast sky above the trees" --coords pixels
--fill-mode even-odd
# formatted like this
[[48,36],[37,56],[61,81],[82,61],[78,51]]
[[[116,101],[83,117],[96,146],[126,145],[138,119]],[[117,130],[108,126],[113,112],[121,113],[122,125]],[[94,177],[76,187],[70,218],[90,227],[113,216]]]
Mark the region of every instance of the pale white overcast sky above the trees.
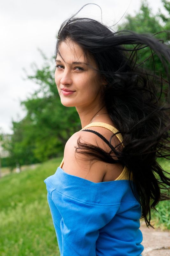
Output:
[[[152,12],[164,10],[161,0],[149,0]],[[11,120],[18,121],[25,112],[20,101],[29,97],[38,85],[24,80],[33,74],[31,63],[39,67],[44,60],[40,48],[50,58],[55,52],[56,34],[61,23],[77,12],[84,4],[99,4],[103,22],[113,25],[124,12],[134,14],[140,8],[140,0],[2,0],[0,1],[0,128],[11,133]],[[90,17],[101,21],[100,8],[86,6],[78,17]],[[125,19],[120,21],[126,22]],[[141,24],[142,26],[142,24]]]

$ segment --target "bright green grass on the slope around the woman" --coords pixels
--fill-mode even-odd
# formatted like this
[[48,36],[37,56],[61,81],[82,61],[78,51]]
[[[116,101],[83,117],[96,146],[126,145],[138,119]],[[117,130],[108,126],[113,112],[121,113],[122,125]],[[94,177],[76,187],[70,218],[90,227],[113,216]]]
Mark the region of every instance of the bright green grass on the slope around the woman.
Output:
[[[34,170],[11,173],[0,179],[0,255],[60,256],[44,180],[54,174],[62,158],[39,164]],[[166,170],[170,163],[161,162]],[[155,227],[170,229],[167,201],[152,214]]]

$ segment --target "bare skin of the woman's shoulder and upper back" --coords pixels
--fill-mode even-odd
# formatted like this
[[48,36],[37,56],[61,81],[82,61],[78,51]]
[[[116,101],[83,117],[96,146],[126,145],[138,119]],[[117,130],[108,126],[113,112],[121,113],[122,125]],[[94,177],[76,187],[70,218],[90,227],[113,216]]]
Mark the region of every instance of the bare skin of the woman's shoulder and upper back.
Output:
[[[103,127],[90,127],[90,129],[99,132],[107,140],[113,135],[112,132]],[[87,155],[76,152],[78,139],[82,143],[100,147],[106,152],[110,151],[109,146],[96,134],[85,131],[76,132],[70,137],[64,148],[64,164],[62,167],[64,172],[95,183],[115,180],[120,175],[123,168],[119,164],[107,164],[100,160],[90,160]]]

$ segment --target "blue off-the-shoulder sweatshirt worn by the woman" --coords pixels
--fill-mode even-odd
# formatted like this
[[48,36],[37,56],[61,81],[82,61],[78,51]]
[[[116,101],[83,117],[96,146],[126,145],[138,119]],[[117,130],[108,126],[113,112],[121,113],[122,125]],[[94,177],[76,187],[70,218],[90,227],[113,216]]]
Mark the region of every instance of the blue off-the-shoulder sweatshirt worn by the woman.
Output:
[[125,170],[94,183],[61,167],[44,180],[61,256],[140,256],[141,206]]

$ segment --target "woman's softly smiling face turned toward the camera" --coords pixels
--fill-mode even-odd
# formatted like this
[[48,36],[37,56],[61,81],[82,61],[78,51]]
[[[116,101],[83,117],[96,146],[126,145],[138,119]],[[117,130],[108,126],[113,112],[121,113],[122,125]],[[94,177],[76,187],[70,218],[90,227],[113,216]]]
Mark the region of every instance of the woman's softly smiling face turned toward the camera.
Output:
[[[92,58],[85,61],[82,49],[72,41],[61,42],[56,57],[55,83],[66,107],[89,107],[100,99],[101,82]],[[86,62],[86,63],[85,63]],[[89,66],[90,65],[90,66]],[[71,90],[72,93],[64,92]]]

